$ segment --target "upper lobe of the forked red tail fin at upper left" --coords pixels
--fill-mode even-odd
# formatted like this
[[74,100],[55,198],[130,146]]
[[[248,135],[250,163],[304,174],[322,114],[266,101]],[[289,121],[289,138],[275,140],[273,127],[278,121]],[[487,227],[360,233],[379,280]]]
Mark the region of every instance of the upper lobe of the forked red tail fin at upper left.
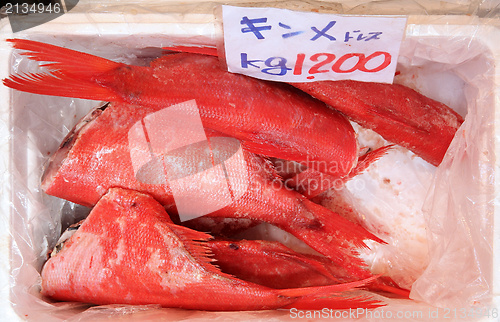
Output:
[[76,50],[45,44],[28,39],[8,39],[16,49],[24,50],[21,54],[30,59],[47,62],[42,66],[50,70],[64,70],[66,73],[90,78],[124,66],[102,57],[82,53]]

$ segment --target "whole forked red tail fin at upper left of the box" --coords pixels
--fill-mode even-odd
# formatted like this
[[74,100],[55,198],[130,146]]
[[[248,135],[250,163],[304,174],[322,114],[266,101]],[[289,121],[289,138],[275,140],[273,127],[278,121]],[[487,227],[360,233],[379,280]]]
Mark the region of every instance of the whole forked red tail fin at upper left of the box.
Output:
[[49,73],[11,75],[3,80],[7,87],[41,95],[77,97],[93,100],[117,100],[111,89],[97,83],[98,75],[124,64],[28,39],[8,39],[21,55],[45,62]]

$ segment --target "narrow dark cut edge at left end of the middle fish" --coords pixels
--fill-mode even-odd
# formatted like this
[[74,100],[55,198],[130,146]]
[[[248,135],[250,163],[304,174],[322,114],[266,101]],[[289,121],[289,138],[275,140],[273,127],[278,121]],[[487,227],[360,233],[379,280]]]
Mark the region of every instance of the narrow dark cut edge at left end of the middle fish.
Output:
[[52,184],[57,171],[63,164],[64,160],[68,156],[69,151],[75,144],[80,133],[87,128],[87,126],[97,119],[104,110],[109,106],[109,102],[105,102],[102,105],[91,110],[87,115],[85,115],[78,124],[76,124],[73,129],[64,137],[64,140],[59,145],[57,151],[50,157],[45,165],[45,170],[43,171],[41,178],[41,188],[46,190]]

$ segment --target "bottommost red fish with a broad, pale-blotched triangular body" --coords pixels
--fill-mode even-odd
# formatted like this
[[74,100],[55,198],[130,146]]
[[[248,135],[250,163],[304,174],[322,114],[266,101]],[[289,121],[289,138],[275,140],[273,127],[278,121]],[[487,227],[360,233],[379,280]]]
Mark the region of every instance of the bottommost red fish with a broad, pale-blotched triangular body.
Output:
[[343,293],[373,278],[281,290],[239,280],[211,264],[208,239],[205,233],[172,224],[149,195],[113,188],[45,263],[42,294],[93,304],[218,311],[303,307],[315,298],[340,308],[381,305]]

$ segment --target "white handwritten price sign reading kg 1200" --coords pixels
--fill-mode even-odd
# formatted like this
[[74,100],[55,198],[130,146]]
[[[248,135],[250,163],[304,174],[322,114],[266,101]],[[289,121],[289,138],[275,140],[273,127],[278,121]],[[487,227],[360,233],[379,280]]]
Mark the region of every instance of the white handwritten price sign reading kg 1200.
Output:
[[406,18],[223,6],[233,73],[283,82],[392,83]]

